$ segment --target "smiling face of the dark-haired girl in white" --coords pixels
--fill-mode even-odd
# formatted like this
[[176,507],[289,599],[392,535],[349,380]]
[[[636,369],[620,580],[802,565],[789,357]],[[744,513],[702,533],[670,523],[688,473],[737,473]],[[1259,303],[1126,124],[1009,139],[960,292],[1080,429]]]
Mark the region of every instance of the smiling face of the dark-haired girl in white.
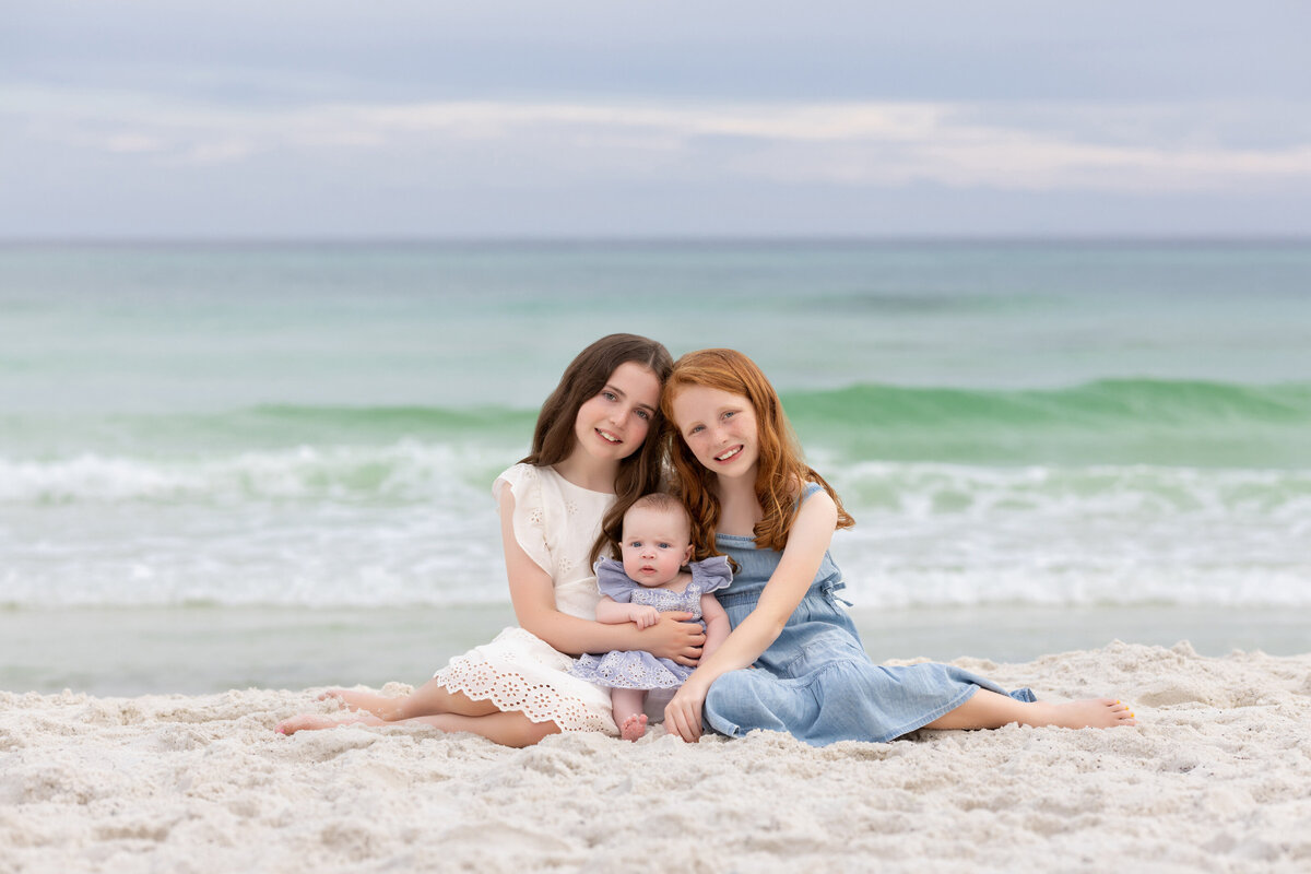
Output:
[[642,447],[659,408],[659,380],[646,367],[624,362],[606,385],[578,408],[574,439],[587,455],[620,461]]

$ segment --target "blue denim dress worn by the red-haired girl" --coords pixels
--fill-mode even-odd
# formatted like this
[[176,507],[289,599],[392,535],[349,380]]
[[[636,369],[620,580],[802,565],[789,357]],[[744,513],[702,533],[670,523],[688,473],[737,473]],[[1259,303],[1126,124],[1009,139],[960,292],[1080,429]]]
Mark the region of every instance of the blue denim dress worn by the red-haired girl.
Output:
[[[808,484],[802,501],[819,489]],[[756,549],[754,537],[717,535],[714,541],[738,563],[733,584],[716,592],[737,628],[755,609],[783,553]],[[814,747],[838,740],[881,743],[950,713],[981,688],[1017,701],[1036,700],[1029,689],[1007,692],[949,664],[874,664],[838,605],[835,592],[846,587],[826,552],[779,638],[750,668],[730,671],[711,685],[703,713],[712,729],[730,738],[754,729],[787,731]]]

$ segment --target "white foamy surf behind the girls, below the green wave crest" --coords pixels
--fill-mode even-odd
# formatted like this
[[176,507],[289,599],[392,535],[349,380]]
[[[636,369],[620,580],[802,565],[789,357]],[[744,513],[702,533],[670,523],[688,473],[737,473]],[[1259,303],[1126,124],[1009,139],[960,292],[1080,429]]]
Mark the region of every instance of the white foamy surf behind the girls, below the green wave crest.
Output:
[[[827,463],[825,463],[827,461]],[[471,446],[0,461],[0,601],[507,600]],[[863,605],[1311,605],[1311,470],[817,459]]]

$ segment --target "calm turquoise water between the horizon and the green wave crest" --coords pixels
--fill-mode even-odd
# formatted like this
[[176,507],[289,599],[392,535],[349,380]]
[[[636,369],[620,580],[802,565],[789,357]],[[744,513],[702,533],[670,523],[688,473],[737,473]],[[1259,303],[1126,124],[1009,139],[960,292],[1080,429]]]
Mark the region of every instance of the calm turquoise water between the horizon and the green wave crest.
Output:
[[0,248],[21,411],[534,408],[602,333],[780,389],[1306,381],[1307,245]]

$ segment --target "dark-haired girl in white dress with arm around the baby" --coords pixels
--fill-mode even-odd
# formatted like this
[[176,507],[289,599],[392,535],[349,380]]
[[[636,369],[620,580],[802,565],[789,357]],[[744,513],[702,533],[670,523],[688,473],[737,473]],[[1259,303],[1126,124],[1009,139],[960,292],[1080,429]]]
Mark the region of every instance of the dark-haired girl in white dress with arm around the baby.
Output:
[[610,544],[604,529],[659,485],[659,393],[671,366],[669,351],[645,337],[597,341],[541,406],[532,452],[493,484],[519,628],[451,659],[413,694],[333,689],[321,697],[354,713],[303,714],[278,731],[410,722],[511,747],[557,731],[617,734],[608,691],[569,676],[570,655],[645,650],[695,664],[705,636],[680,621],[690,613],[662,613],[642,629],[594,621],[600,595],[591,569]]

